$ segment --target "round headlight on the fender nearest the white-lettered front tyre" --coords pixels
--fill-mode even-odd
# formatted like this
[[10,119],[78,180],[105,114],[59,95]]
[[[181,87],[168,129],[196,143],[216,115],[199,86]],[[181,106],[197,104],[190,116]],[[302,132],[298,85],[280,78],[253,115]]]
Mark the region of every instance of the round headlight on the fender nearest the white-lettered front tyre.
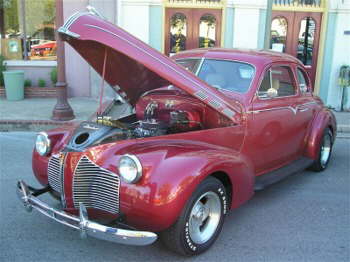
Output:
[[136,183],[142,175],[141,162],[134,155],[123,155],[118,169],[121,178],[127,183]]

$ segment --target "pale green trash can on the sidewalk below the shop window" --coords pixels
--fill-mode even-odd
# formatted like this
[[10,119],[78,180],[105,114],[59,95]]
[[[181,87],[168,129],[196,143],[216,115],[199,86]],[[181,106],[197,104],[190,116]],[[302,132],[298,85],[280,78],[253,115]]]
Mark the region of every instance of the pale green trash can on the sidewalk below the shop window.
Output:
[[7,100],[24,99],[24,71],[4,71],[5,93]]

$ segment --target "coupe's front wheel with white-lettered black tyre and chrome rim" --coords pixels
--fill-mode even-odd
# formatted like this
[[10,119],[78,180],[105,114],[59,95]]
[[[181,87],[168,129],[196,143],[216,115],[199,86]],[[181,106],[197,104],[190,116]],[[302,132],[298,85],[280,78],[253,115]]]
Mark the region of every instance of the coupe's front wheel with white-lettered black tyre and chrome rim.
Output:
[[227,212],[227,193],[216,178],[205,179],[193,193],[177,222],[161,233],[171,250],[186,256],[206,251],[220,234]]

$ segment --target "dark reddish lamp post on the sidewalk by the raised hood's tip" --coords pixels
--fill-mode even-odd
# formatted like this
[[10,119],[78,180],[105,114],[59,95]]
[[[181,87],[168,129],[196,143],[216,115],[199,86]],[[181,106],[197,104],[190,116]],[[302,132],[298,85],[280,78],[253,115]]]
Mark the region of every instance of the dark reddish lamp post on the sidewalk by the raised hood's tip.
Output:
[[[63,25],[63,0],[56,0],[56,28]],[[52,120],[68,121],[75,118],[67,100],[64,43],[56,30],[57,45],[57,102],[52,111]]]

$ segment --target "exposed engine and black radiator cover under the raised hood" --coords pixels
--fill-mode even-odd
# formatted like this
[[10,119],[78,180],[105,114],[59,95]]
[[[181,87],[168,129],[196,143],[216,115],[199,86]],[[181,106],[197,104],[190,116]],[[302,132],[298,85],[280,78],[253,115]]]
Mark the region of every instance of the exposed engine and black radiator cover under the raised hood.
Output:
[[199,130],[202,124],[197,112],[176,108],[161,110],[156,101],[147,104],[143,119],[136,114],[113,119],[108,115],[97,116],[96,121],[84,121],[74,131],[65,151],[83,151],[85,148],[114,141],[154,137]]

